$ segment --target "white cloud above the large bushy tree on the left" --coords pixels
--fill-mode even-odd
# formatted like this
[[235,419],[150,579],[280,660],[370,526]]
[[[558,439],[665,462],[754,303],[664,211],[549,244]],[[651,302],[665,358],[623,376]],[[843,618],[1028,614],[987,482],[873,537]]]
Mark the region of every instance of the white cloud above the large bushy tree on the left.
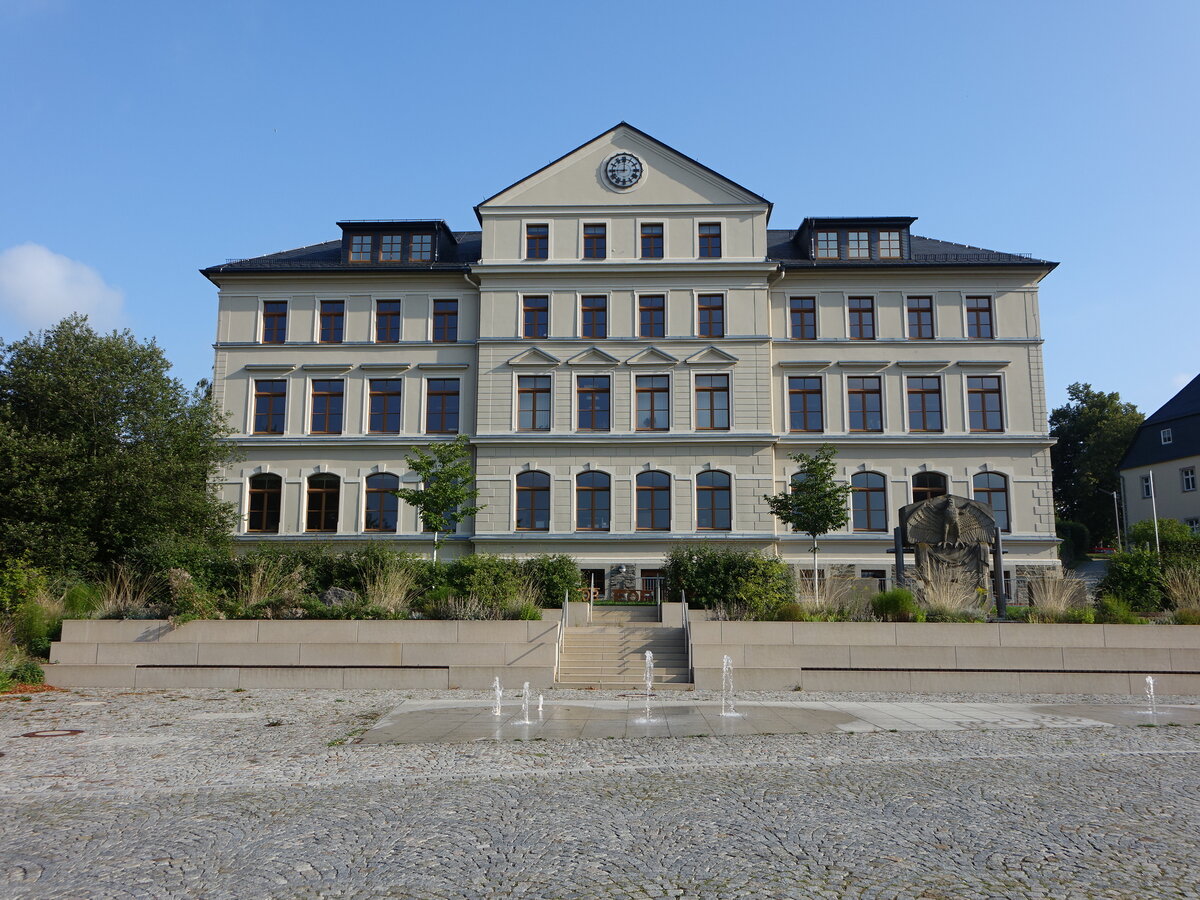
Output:
[[124,302],[124,294],[106,284],[90,265],[41,244],[22,244],[0,252],[0,318],[18,328],[48,328],[72,312],[82,312],[92,328],[104,331],[119,324]]

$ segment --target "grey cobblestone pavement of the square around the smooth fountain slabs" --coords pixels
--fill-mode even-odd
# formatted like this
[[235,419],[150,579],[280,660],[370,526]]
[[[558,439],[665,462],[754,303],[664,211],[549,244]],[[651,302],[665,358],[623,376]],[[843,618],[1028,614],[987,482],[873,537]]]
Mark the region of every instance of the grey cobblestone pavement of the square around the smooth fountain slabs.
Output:
[[341,743],[439,697],[5,697],[0,896],[1200,898],[1196,726]]

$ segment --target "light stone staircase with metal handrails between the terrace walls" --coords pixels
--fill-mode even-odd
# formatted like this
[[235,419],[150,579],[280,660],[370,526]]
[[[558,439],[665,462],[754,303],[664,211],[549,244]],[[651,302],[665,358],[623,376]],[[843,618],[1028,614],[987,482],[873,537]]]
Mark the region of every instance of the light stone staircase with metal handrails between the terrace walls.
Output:
[[658,620],[654,606],[594,606],[590,625],[566,629],[558,665],[560,688],[644,688],[646,652],[654,654],[659,690],[690,690],[688,646],[682,628]]

